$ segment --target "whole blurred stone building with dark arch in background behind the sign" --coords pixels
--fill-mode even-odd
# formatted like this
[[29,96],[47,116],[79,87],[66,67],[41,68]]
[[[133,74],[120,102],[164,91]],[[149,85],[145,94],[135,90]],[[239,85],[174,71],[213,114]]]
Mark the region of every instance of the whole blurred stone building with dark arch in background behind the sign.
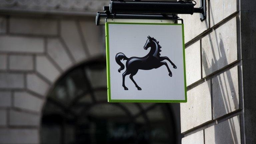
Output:
[[179,104],[107,103],[108,0],[0,0],[0,143],[181,143]]

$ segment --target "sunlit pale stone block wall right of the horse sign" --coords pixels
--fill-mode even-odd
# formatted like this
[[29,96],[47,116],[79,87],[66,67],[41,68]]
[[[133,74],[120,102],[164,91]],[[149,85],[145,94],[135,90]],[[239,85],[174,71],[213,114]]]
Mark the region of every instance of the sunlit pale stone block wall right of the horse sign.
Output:
[[205,20],[178,15],[184,20],[188,90],[180,108],[182,144],[245,143],[240,1],[206,1]]

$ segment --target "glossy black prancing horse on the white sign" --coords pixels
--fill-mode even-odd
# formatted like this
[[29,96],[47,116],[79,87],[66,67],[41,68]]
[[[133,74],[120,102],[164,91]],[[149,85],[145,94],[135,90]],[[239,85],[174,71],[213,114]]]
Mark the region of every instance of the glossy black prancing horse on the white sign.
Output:
[[121,62],[121,60],[127,60],[126,61],[126,70],[123,73],[123,87],[124,90],[128,90],[128,88],[125,86],[125,76],[130,75],[130,79],[135,84],[138,90],[141,90],[141,88],[137,85],[137,83],[134,81],[133,76],[138,72],[139,69],[141,70],[151,70],[153,68],[159,68],[162,65],[165,65],[167,67],[167,70],[169,72],[169,76],[172,76],[172,72],[170,68],[168,67],[166,62],[162,62],[163,60],[168,60],[173,68],[177,68],[175,64],[168,58],[168,57],[160,57],[160,48],[159,42],[148,36],[147,42],[144,45],[144,49],[147,50],[150,47],[149,53],[144,57],[131,57],[127,58],[123,53],[116,54],[116,62],[121,66],[121,68],[118,69],[118,72],[121,72],[121,70],[124,69],[124,64]]

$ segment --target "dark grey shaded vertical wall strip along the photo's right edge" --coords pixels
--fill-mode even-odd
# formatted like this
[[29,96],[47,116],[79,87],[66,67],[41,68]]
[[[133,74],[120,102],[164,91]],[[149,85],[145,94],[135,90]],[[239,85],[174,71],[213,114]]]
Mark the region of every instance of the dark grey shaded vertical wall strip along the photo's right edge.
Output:
[[243,60],[245,141],[256,143],[256,2],[241,1],[241,47]]

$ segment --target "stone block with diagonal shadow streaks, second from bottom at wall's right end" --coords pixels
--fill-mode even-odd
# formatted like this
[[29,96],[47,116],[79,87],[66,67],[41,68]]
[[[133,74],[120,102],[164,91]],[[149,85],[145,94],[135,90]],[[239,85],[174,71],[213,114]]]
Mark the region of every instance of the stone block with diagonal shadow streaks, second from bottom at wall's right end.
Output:
[[238,67],[212,79],[213,118],[239,109]]

